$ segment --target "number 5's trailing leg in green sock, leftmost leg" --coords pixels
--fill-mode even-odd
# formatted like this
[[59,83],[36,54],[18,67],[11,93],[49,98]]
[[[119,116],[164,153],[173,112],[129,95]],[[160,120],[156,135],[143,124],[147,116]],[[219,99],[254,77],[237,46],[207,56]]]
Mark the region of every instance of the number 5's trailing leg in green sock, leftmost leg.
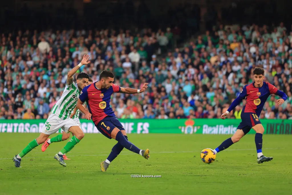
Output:
[[36,139],[32,140],[31,142],[29,142],[29,144],[19,154],[15,155],[12,158],[13,161],[14,161],[15,167],[21,167],[20,166],[21,158],[24,157],[30,151],[32,151],[32,149],[34,149],[39,144],[44,143],[48,139],[49,136],[50,135],[41,133],[38,138],[36,138]]

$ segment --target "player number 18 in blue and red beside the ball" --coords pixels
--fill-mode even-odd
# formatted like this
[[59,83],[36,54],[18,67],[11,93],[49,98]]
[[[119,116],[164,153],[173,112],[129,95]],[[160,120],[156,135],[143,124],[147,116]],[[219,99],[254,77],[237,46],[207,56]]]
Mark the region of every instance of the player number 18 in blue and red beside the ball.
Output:
[[260,67],[256,67],[253,70],[252,84],[244,86],[242,92],[239,96],[231,103],[230,107],[225,113],[221,115],[221,119],[225,119],[226,116],[243,100],[246,99],[246,104],[244,105],[241,112],[241,123],[237,127],[237,131],[234,135],[218,146],[213,153],[216,154],[222,150],[227,149],[229,146],[239,141],[244,135],[246,135],[251,129],[256,131],[255,142],[256,150],[258,153],[258,163],[268,162],[273,159],[273,157],[266,157],[262,153],[263,147],[263,133],[265,131],[263,125],[260,123],[260,113],[263,110],[267,98],[271,94],[276,94],[281,97],[276,103],[282,105],[287,99],[287,95],[277,89],[274,85],[264,82],[265,70]]

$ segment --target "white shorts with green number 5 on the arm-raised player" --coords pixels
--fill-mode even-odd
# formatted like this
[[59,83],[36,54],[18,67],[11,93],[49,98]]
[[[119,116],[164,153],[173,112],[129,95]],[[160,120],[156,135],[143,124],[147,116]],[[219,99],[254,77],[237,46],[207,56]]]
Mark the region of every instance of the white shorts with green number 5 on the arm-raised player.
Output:
[[79,126],[72,118],[67,118],[65,120],[60,119],[57,115],[51,113],[48,116],[41,132],[47,135],[54,134],[61,128],[63,131],[68,133],[70,127]]

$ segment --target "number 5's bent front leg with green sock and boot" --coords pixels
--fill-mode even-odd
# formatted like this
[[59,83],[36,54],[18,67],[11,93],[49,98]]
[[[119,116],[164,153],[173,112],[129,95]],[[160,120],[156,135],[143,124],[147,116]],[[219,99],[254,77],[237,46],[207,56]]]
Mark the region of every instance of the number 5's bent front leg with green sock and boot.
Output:
[[[66,127],[62,127],[62,129],[66,129]],[[55,155],[55,159],[57,161],[59,161],[60,165],[62,166],[67,166],[66,163],[64,162],[64,158],[63,155],[65,153],[68,153],[70,150],[72,150],[72,148],[79,143],[79,141],[84,137],[84,133],[83,131],[80,129],[79,126],[71,126],[68,129],[69,132],[72,132],[72,134],[74,134],[74,136],[70,139],[70,141],[68,141],[68,143],[66,144],[66,146]]]

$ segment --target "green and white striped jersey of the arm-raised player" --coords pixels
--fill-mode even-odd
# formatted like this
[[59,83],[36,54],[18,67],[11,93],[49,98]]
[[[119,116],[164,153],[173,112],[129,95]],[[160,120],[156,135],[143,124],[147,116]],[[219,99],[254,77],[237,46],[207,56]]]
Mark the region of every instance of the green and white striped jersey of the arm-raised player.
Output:
[[71,85],[66,84],[61,98],[54,105],[51,112],[63,120],[69,118],[77,105],[80,93],[76,83],[73,82]]

